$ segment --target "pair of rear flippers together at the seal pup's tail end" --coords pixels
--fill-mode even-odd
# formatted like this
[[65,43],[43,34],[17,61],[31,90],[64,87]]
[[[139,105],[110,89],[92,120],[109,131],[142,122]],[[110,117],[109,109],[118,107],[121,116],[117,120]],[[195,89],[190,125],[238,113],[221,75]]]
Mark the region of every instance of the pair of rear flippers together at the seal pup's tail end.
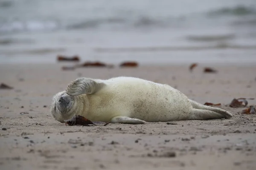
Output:
[[213,108],[210,106],[202,105],[198,102],[189,99],[193,109],[189,119],[206,120],[206,119],[230,119],[233,115],[228,111],[221,108]]

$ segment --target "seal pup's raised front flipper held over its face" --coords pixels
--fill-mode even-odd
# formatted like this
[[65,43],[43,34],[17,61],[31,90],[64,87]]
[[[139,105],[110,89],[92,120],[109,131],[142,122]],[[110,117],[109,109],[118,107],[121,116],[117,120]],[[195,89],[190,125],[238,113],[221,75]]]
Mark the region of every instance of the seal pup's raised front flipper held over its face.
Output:
[[66,91],[70,96],[93,94],[99,91],[104,85],[103,82],[96,82],[94,79],[78,78],[68,85]]

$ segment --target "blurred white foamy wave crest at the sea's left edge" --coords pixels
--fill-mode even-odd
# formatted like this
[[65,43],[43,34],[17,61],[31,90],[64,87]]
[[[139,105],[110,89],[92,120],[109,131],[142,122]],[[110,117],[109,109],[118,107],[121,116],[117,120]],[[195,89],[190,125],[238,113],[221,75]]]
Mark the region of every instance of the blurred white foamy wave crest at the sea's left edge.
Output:
[[15,21],[0,24],[0,32],[20,32],[20,31],[41,31],[57,29],[58,23],[55,21]]

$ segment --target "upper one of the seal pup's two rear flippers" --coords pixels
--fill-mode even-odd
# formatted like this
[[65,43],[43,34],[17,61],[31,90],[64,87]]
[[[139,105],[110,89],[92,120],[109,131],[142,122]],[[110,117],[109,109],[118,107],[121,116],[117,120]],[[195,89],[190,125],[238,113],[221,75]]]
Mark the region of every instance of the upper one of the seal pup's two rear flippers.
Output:
[[[203,111],[205,111],[205,113],[207,113],[207,111],[212,111],[212,112],[221,114],[222,115],[221,118],[226,118],[226,119],[229,119],[233,116],[231,113],[229,113],[228,111],[225,111],[224,109],[221,109],[221,108],[213,108],[210,106],[202,105],[201,103],[195,102],[190,99],[189,99],[189,102],[191,103],[191,105],[194,109],[203,110]],[[218,119],[218,118],[215,118],[215,119]]]

